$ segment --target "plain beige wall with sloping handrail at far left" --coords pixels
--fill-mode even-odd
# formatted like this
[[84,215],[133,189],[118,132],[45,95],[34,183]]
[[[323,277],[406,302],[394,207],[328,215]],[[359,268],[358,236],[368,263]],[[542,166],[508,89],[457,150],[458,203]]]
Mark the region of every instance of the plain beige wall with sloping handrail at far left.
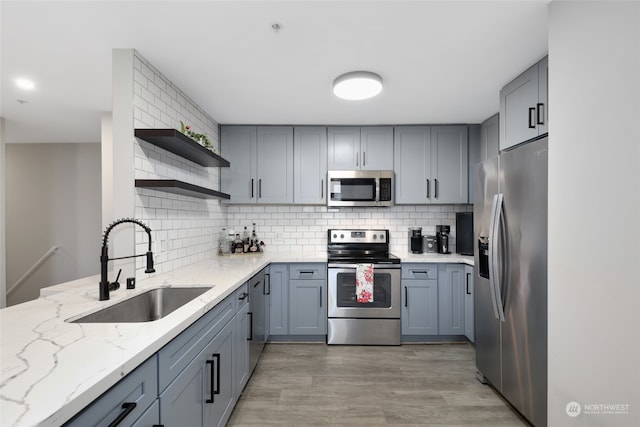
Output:
[[100,145],[6,145],[7,290],[52,246],[61,249],[7,297],[99,272]]

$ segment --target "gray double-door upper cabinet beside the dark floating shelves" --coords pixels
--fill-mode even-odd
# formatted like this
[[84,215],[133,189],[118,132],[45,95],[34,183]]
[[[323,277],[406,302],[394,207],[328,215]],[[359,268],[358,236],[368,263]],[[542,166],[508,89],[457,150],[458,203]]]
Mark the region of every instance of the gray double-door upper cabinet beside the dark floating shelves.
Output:
[[220,146],[229,203],[293,203],[293,127],[222,126]]

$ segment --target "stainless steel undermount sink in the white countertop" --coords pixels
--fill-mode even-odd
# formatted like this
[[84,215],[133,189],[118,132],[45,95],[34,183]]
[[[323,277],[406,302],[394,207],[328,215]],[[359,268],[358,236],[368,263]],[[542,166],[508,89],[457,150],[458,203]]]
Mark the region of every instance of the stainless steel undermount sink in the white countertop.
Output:
[[132,323],[162,319],[211,287],[164,287],[150,289],[71,323]]

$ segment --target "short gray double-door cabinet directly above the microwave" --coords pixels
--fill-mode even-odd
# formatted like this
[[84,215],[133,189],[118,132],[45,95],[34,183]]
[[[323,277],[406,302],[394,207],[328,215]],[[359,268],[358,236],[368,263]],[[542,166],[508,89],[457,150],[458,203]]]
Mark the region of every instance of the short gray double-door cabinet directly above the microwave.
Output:
[[393,169],[393,127],[331,126],[328,170]]

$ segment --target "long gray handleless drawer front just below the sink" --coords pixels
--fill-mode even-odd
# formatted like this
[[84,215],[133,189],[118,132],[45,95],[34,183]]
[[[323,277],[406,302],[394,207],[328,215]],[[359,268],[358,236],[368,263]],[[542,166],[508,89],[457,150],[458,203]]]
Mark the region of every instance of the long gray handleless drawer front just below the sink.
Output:
[[235,315],[235,294],[175,337],[158,352],[158,386],[162,392]]

